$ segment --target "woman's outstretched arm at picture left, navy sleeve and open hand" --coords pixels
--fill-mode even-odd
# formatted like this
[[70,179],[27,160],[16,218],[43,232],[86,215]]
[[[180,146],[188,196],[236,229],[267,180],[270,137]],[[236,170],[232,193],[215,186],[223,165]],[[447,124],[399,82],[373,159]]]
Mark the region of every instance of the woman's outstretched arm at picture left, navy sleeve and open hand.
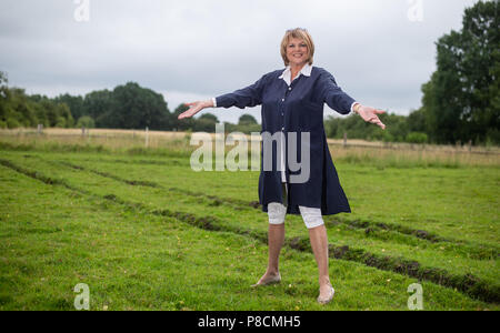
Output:
[[266,75],[260,78],[256,83],[237,90],[231,93],[219,95],[214,99],[207,101],[198,101],[192,103],[186,103],[190,107],[188,111],[179,114],[179,119],[190,118],[206,108],[231,108],[237,107],[240,109],[256,107],[262,103],[262,90],[264,87]]

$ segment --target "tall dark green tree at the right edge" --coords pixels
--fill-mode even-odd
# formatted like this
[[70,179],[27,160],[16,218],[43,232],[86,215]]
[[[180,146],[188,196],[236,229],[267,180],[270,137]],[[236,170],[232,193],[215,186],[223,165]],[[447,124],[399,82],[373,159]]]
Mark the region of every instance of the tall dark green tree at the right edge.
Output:
[[500,142],[498,1],[466,9],[462,30],[437,42],[437,71],[422,85],[430,138],[439,143]]

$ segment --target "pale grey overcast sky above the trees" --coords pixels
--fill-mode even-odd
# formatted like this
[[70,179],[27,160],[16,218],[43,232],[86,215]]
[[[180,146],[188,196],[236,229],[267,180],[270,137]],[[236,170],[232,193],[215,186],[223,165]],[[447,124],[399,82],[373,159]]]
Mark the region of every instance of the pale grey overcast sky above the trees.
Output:
[[[10,85],[49,97],[134,81],[161,92],[172,111],[282,69],[283,33],[302,27],[316,43],[314,65],[346,92],[408,114],[436,69],[434,42],[459,30],[463,10],[476,2],[1,0],[0,70]],[[251,113],[260,122],[260,108],[204,112],[231,122]]]

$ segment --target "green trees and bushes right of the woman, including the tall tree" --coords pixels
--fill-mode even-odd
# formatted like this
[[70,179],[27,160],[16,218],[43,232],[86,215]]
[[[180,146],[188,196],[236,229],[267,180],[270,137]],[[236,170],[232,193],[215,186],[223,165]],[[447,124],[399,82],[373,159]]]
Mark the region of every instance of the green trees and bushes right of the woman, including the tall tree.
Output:
[[437,42],[437,70],[422,84],[422,105],[409,117],[382,114],[382,131],[360,118],[329,118],[330,138],[500,144],[500,8],[479,1],[466,9],[462,29]]

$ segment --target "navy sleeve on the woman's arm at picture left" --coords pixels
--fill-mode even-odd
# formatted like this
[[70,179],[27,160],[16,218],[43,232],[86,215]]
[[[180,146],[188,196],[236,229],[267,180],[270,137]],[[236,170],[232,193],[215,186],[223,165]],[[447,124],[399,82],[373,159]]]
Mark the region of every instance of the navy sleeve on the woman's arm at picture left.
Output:
[[214,104],[221,108],[237,107],[240,109],[259,105],[262,103],[262,90],[264,84],[266,75],[247,88],[217,97]]

